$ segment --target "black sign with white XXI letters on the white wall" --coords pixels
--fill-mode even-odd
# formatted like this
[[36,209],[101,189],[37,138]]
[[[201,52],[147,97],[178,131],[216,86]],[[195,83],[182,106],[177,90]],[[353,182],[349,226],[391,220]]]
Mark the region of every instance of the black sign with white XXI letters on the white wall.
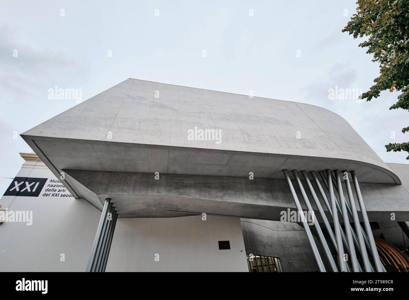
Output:
[[15,177],[4,196],[38,197],[47,178]]

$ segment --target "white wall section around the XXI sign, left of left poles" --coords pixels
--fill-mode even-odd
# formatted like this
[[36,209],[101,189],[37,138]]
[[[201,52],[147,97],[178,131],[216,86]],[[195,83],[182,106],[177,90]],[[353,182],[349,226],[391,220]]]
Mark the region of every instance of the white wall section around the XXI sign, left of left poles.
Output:
[[48,180],[38,197],[2,196],[0,209],[32,211],[33,221],[0,225],[0,271],[85,271],[101,211],[84,199],[42,196],[56,179],[42,162],[22,167],[16,177]]

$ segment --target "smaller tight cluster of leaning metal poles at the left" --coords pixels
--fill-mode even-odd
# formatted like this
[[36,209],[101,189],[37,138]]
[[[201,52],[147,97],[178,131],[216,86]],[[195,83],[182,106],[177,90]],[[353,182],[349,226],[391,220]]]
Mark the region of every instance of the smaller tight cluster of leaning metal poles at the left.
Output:
[[105,199],[97,234],[88,259],[87,272],[105,272],[118,214],[110,198]]

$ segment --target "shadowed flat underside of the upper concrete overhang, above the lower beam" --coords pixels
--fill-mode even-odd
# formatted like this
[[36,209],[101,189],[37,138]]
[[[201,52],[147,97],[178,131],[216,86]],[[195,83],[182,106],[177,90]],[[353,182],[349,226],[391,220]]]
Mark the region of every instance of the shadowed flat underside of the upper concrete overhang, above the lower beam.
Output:
[[[355,170],[360,182],[400,184],[389,169],[355,160],[25,136],[47,164],[62,169],[283,178],[283,169]],[[58,176],[59,177],[59,176]]]

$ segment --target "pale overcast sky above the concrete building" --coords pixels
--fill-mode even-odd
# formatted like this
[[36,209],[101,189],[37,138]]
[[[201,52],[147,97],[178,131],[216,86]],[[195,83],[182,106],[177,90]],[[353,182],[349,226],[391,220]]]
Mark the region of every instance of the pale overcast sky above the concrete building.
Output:
[[[409,113],[389,110],[399,93],[328,98],[336,86],[366,91],[379,74],[360,41],[341,32],[354,0],[1,2],[0,177],[13,178],[18,153],[31,152],[15,132],[76,105],[49,100],[48,89],[79,88],[85,100],[127,78],[318,105],[345,118],[385,162],[408,163],[407,153],[384,148],[409,140],[401,133]],[[0,192],[10,182],[0,178]]]

